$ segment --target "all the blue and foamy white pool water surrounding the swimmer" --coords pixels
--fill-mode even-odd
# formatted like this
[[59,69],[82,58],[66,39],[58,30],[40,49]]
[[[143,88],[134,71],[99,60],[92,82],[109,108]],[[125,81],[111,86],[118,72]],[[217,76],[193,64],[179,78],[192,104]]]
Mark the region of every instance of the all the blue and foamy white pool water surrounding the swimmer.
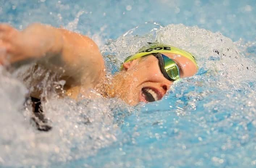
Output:
[[[161,101],[135,107],[116,98],[58,99],[53,88],[62,81],[56,75],[33,65],[12,73],[1,67],[0,167],[256,167],[254,0],[0,4],[0,22],[18,29],[42,22],[87,34],[100,46],[109,73],[154,41],[190,51],[200,67]],[[24,72],[44,74],[37,86],[44,94],[53,91],[42,104],[50,132],[30,122],[24,102],[33,77],[21,82]]]

